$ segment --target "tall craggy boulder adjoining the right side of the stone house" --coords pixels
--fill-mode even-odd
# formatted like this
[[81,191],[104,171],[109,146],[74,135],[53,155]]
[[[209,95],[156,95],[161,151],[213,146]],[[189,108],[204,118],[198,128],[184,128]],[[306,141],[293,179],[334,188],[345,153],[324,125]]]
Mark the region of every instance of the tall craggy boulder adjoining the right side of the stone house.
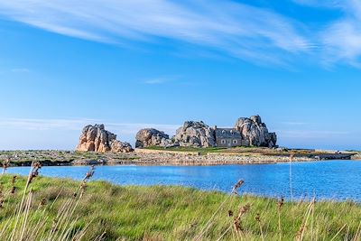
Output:
[[269,133],[260,116],[241,117],[236,121],[235,128],[241,132],[245,145],[274,147],[277,135]]

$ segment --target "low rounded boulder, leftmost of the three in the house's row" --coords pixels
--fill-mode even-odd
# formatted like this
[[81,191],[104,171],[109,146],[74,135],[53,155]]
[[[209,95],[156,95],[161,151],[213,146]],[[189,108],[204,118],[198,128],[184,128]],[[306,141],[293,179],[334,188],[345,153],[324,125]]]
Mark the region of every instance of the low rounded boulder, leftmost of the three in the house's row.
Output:
[[171,147],[174,144],[168,134],[154,128],[140,130],[135,136],[135,147],[142,148],[147,146]]

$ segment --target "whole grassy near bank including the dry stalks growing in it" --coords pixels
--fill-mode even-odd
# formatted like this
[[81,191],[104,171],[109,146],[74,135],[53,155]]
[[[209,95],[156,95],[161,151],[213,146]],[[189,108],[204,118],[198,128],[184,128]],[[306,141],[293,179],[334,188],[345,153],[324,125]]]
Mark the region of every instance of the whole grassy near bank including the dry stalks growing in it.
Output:
[[282,202],[182,187],[121,187],[35,176],[26,192],[27,178],[0,176],[1,240],[12,235],[20,240],[21,233],[23,240],[361,238],[361,207],[353,202]]

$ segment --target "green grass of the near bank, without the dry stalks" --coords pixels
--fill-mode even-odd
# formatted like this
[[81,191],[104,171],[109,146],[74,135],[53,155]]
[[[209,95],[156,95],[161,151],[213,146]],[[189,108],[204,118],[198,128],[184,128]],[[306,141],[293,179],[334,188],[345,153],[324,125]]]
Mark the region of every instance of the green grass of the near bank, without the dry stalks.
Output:
[[[14,209],[26,182],[25,178],[19,178],[15,182],[15,193],[5,195],[12,188],[12,177],[0,176],[1,198],[5,200],[0,209],[0,230],[9,219],[14,219]],[[30,219],[41,218],[35,210],[45,199],[46,204],[41,209],[44,209],[44,217],[49,219],[45,224],[45,229],[49,230],[61,205],[72,199],[79,184],[79,181],[37,177],[30,185],[33,191],[31,213],[34,213]],[[204,229],[206,232],[199,240],[217,240],[231,227],[223,240],[232,240],[236,237],[236,229],[232,226],[234,218],[246,204],[250,209],[241,218],[243,232],[239,240],[261,240],[261,236],[264,240],[279,240],[277,199],[182,187],[122,187],[105,181],[88,182],[73,214],[77,218],[74,228],[90,224],[83,240],[93,240],[102,234],[106,240],[194,240]],[[228,217],[228,210],[235,216]],[[353,240],[356,236],[361,221],[359,204],[320,201],[310,206],[309,202],[285,202],[280,209],[282,240],[295,239],[308,210],[310,215],[307,224],[303,225],[304,240],[330,240],[334,236],[334,240]],[[211,218],[214,213],[216,215]],[[257,214],[260,215],[259,223],[255,220]],[[211,226],[204,228],[209,219]]]

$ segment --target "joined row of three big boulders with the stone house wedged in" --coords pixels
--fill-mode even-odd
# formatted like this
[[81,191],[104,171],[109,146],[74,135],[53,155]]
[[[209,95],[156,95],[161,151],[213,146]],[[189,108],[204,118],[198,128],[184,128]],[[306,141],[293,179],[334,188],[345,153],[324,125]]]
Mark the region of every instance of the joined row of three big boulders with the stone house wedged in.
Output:
[[156,129],[142,129],[136,136],[136,148],[169,147],[276,147],[277,135],[269,133],[260,116],[241,117],[233,128],[209,127],[202,121],[186,121],[173,137]]

